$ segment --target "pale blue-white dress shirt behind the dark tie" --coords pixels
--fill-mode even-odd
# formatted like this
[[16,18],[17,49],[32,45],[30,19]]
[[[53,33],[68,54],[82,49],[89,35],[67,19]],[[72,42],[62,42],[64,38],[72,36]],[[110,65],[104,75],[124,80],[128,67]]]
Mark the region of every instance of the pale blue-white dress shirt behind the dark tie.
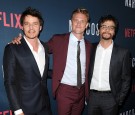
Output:
[[[78,39],[70,34],[67,61],[65,71],[61,80],[61,83],[76,86],[77,85],[77,44]],[[81,77],[82,84],[85,82],[85,69],[86,69],[86,51],[84,39],[80,40],[80,60],[81,60]]]

